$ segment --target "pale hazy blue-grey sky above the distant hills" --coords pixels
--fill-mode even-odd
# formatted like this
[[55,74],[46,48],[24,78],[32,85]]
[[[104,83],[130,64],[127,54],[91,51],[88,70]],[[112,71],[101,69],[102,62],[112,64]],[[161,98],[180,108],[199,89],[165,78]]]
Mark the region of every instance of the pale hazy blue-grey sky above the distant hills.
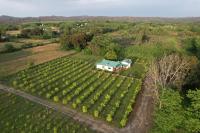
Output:
[[0,0],[10,16],[200,16],[200,0]]

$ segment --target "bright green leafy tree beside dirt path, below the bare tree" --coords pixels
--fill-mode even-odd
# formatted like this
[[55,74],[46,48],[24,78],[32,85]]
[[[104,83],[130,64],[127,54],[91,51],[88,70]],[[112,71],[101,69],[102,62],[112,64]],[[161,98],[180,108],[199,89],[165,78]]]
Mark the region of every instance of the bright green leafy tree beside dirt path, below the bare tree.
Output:
[[162,90],[160,96],[161,108],[157,107],[154,116],[154,133],[175,132],[183,124],[184,110],[182,98],[178,91]]

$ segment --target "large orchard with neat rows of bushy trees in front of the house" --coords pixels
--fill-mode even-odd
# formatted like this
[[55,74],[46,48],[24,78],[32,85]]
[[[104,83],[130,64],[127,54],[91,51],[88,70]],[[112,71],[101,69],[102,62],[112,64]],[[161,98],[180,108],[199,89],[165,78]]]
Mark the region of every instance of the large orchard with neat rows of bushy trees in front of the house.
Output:
[[141,80],[97,71],[94,67],[89,61],[62,57],[16,73],[10,84],[124,127],[140,91]]

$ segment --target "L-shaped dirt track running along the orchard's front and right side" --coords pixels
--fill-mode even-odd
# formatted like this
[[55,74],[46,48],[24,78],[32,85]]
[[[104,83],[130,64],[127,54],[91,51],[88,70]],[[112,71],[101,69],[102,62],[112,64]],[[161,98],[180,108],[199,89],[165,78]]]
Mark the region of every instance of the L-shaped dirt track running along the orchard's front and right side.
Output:
[[[146,81],[146,80],[145,80]],[[145,84],[145,82],[144,82]],[[143,85],[142,91],[137,97],[134,111],[131,113],[128,125],[123,128],[116,128],[108,125],[102,120],[94,119],[92,116],[80,113],[69,107],[49,102],[47,100],[41,99],[39,97],[33,96],[31,94],[25,93],[20,90],[16,90],[11,87],[7,87],[0,84],[0,90],[13,93],[15,95],[21,96],[32,102],[41,104],[58,112],[61,112],[67,116],[72,117],[81,123],[85,123],[90,126],[93,130],[103,132],[103,133],[146,133],[152,124],[152,112],[153,112],[153,97],[150,88]]]

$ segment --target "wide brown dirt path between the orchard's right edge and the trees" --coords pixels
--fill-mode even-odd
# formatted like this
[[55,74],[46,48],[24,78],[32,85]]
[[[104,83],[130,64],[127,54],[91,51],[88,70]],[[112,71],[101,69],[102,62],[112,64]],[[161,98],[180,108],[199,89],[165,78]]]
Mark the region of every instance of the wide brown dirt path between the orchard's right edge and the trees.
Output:
[[148,85],[146,78],[142,85],[142,91],[137,96],[134,110],[130,115],[128,125],[122,129],[124,133],[147,133],[153,123],[153,89]]

